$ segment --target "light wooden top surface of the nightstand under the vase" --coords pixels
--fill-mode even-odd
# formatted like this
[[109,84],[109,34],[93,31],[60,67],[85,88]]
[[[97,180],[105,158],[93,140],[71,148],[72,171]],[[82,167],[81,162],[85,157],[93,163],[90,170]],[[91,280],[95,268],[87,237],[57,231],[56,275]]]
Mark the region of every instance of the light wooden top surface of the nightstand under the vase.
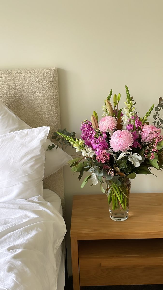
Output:
[[78,240],[163,238],[163,193],[131,193],[124,222],[110,219],[105,194],[75,195],[70,236]]

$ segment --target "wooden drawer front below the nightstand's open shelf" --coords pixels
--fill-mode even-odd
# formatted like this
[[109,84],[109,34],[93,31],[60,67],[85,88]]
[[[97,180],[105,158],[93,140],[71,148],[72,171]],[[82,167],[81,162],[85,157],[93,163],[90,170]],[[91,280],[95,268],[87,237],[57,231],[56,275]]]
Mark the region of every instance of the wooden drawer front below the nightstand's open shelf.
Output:
[[163,284],[163,258],[79,258],[79,272],[80,286]]

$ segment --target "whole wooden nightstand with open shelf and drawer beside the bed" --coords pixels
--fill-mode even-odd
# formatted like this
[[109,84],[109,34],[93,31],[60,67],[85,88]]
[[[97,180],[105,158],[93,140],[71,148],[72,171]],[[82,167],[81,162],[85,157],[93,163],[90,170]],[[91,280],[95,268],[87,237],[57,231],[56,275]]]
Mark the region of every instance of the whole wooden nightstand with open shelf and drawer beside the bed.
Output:
[[163,284],[163,193],[131,194],[124,222],[110,219],[106,195],[75,195],[70,236],[74,290]]

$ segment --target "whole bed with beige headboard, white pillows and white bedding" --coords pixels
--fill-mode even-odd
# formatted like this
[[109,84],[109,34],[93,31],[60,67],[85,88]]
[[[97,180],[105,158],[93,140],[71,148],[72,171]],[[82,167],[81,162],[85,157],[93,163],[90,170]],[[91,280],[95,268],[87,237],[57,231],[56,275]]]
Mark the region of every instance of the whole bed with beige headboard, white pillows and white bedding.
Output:
[[[6,121],[7,114],[10,116]],[[59,127],[56,68],[0,70],[0,150],[6,148],[0,171],[0,289],[64,289],[66,225],[62,166],[70,157],[59,148],[57,153],[55,149],[46,151],[52,133]],[[35,138],[38,144],[33,149],[30,145],[36,143]],[[15,145],[17,139],[20,141]],[[17,150],[20,162],[25,165],[28,160],[22,160],[25,156],[29,158],[30,152],[30,166],[15,161]],[[8,173],[10,163],[16,167]],[[16,183],[15,172],[21,175]]]

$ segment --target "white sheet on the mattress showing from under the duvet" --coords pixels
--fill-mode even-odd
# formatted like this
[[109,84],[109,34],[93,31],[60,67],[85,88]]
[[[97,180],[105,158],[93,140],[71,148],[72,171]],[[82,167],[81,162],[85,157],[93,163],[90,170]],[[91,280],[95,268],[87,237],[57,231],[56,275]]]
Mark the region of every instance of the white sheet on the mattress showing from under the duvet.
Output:
[[[55,209],[62,215],[61,199],[57,193],[49,189],[43,189],[43,198],[47,202],[50,202],[52,206],[54,206]],[[57,266],[57,290],[64,290],[66,259],[65,240],[63,240],[60,247],[56,251],[55,259]]]

